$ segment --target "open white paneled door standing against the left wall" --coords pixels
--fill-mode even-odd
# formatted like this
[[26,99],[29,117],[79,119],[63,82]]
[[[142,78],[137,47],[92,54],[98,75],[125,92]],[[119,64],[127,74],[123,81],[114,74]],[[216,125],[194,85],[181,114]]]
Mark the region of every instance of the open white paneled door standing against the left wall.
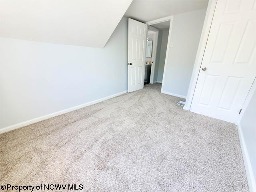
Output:
[[128,21],[128,92],[144,87],[147,25]]

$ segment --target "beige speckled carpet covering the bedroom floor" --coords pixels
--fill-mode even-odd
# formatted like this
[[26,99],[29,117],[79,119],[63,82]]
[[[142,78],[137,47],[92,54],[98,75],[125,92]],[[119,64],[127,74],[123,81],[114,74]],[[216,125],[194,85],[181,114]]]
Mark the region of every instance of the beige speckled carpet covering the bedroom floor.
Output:
[[160,84],[0,135],[0,184],[98,192],[247,192],[234,124],[182,109]]

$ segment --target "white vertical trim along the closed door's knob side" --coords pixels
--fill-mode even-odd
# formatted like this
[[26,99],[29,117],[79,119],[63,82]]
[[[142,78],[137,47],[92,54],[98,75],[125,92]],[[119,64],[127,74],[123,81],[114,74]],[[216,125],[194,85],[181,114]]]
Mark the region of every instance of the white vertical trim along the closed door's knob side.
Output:
[[216,4],[217,4],[217,0],[209,0],[209,2],[208,2],[206,16],[204,19],[204,26],[202,29],[202,34],[200,37],[200,42],[199,42],[198,50],[196,53],[196,60],[194,63],[194,68],[193,68],[193,72],[192,72],[192,76],[191,76],[190,84],[189,84],[189,88],[188,88],[188,95],[187,95],[188,99],[186,100],[185,106],[183,107],[188,110],[190,110],[190,107],[192,104],[192,99],[194,96],[194,91],[196,89],[196,82],[197,82],[198,75],[199,75],[199,69],[201,67],[201,63],[203,60],[204,50],[205,50],[206,43],[208,40],[208,35],[210,33],[210,28],[212,25],[212,19],[214,16]]

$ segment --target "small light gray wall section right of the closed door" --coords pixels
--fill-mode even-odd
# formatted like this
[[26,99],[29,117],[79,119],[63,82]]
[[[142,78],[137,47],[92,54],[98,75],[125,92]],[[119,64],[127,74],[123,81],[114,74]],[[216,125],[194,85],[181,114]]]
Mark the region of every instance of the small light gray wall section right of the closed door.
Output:
[[244,112],[240,126],[252,165],[252,172],[256,178],[256,91]]

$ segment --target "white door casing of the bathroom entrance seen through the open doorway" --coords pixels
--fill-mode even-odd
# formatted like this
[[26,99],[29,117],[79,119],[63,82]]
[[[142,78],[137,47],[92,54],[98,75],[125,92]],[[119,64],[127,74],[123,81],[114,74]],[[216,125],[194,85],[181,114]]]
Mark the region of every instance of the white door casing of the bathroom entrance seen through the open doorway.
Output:
[[154,74],[155,74],[155,66],[156,66],[156,51],[158,44],[158,33],[159,30],[152,26],[148,26],[148,29],[154,31],[154,41],[153,41],[153,51],[152,51],[152,64],[151,64],[151,72],[150,72],[150,83],[154,82]]

